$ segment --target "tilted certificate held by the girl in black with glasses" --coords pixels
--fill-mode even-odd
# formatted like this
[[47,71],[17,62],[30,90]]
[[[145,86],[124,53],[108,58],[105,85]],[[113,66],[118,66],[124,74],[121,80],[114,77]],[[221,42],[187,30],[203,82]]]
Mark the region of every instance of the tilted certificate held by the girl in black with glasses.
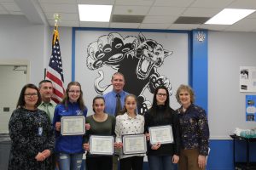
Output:
[[150,144],[172,144],[172,126],[149,127]]

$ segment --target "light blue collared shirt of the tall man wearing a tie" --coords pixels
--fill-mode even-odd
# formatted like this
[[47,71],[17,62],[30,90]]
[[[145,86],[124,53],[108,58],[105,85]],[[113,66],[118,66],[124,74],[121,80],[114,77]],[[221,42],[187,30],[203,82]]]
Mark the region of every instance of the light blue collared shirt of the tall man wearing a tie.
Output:
[[[108,92],[108,94],[103,95],[105,99],[105,112],[113,116],[116,108],[116,94],[117,94],[116,92],[111,91],[111,92]],[[121,91],[119,94],[120,94],[120,100],[122,105],[121,108],[123,108],[125,105],[125,96],[128,95],[128,93],[125,91]]]

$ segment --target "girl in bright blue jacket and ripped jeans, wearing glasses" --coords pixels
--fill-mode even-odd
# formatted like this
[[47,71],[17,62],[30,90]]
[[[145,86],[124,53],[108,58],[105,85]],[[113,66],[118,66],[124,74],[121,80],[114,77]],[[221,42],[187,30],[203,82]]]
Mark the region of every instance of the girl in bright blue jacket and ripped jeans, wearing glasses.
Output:
[[[79,82],[69,82],[61,104],[55,107],[53,125],[55,125],[55,151],[60,170],[79,170],[84,149],[83,135],[61,135],[62,116],[86,116],[83,92]],[[88,126],[85,126],[89,128]]]

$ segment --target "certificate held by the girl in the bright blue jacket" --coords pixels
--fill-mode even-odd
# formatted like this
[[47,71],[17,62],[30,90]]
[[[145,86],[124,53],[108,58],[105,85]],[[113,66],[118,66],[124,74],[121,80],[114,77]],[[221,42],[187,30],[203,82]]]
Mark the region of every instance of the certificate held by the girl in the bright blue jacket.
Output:
[[61,134],[64,135],[83,135],[85,133],[84,116],[62,116]]

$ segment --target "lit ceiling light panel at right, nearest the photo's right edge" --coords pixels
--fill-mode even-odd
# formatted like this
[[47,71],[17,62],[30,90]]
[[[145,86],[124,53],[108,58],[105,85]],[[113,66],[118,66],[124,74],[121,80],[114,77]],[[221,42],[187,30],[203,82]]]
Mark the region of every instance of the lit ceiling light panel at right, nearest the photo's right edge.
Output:
[[232,25],[254,11],[254,9],[224,8],[210,20],[207,20],[205,24]]

